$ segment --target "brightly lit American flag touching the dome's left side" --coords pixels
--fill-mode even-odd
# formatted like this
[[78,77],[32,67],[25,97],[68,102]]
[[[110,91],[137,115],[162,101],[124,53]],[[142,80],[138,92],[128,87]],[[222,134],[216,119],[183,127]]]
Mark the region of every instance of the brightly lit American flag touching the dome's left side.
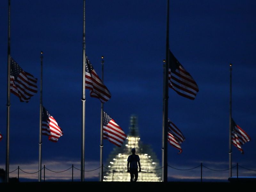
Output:
[[105,111],[103,111],[103,139],[108,139],[117,147],[121,147],[126,139],[123,129]]

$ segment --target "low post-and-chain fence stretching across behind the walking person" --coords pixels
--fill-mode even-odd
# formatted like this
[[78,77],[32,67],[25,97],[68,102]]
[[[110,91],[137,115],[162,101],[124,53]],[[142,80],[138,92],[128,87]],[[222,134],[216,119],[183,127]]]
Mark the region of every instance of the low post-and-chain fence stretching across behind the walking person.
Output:
[[[170,167],[170,168],[172,168],[172,169],[179,170],[179,171],[189,171],[189,170],[197,169],[197,168],[200,167],[200,169],[201,169],[201,182],[203,182],[203,167],[206,168],[206,169],[208,169],[208,170],[215,171],[215,172],[228,171],[228,170],[233,169],[233,168],[236,167],[236,177],[237,177],[237,178],[238,178],[238,167],[240,167],[240,168],[242,168],[242,169],[245,169],[245,170],[249,170],[249,171],[256,171],[256,170],[254,170],[254,169],[248,169],[248,168],[246,168],[246,167],[243,167],[243,166],[241,166],[241,165],[238,165],[238,163],[237,163],[235,166],[233,166],[233,167],[231,167],[231,168],[229,168],[229,169],[223,169],[223,170],[216,170],[216,169],[209,168],[209,167],[203,165],[203,163],[199,164],[199,165],[196,166],[196,167],[190,168],[190,169],[180,169],[180,168],[172,167],[172,166],[170,166],[170,165],[167,165],[167,166]],[[124,172],[124,171],[127,170],[127,169],[124,169],[124,170],[112,170],[112,169],[109,169],[108,167],[105,167],[105,166],[103,166],[103,167],[104,167],[105,169],[108,169],[109,171],[113,171],[113,172]],[[83,172],[92,172],[92,171],[98,170],[98,169],[100,169],[100,168],[101,168],[101,166],[98,167],[98,168],[96,168],[96,169],[93,169],[93,170],[83,170]],[[160,168],[153,169],[153,170],[146,170],[146,169],[141,169],[141,170],[143,170],[143,171],[156,171],[156,170],[159,170],[159,169],[162,169],[162,168],[164,168],[164,167],[160,167]],[[82,171],[81,169],[76,168],[76,167],[74,166],[74,164],[72,164],[71,167],[69,167],[68,169],[63,170],[63,171],[53,171],[53,170],[48,169],[48,168],[45,167],[45,165],[44,165],[44,167],[43,167],[41,170],[38,170],[38,171],[36,171],[36,172],[26,172],[26,171],[22,170],[22,169],[20,168],[20,166],[18,166],[18,168],[16,168],[15,170],[13,170],[13,171],[11,171],[11,172],[9,172],[9,173],[12,173],[12,172],[15,172],[15,171],[18,170],[18,180],[20,180],[20,171],[22,171],[22,172],[24,172],[24,173],[27,173],[27,174],[35,174],[35,173],[38,173],[39,171],[44,171],[43,176],[44,176],[44,181],[45,181],[45,169],[48,170],[48,171],[50,171],[50,172],[54,172],[54,173],[66,172],[66,171],[72,169],[72,181],[74,181],[74,169],[76,169],[76,170],[78,170],[78,171]]]

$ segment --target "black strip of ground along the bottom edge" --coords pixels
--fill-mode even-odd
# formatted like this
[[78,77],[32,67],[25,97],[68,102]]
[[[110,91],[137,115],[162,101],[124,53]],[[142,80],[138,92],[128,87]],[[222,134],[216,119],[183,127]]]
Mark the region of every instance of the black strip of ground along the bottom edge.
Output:
[[[0,191],[41,191],[41,190],[58,190],[58,191],[179,191],[195,190],[212,191],[212,190],[230,190],[245,189],[249,185],[255,186],[255,182],[21,182],[21,183],[0,183]],[[93,191],[94,192],[94,191]]]

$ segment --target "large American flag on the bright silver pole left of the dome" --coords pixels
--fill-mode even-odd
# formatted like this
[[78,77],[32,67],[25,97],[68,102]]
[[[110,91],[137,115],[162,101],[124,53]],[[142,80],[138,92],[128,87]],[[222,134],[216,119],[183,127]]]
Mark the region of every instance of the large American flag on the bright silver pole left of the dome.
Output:
[[105,103],[111,97],[111,93],[108,91],[108,88],[103,84],[87,57],[85,65],[85,88],[90,89],[91,97],[100,99],[102,103]]

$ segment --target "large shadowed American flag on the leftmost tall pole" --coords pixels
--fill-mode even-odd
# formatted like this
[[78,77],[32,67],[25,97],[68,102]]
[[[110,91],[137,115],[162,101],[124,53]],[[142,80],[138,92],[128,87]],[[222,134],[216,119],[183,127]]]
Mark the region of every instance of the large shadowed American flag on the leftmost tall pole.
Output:
[[11,58],[10,91],[20,98],[21,102],[28,102],[37,92],[37,78],[22,68]]

